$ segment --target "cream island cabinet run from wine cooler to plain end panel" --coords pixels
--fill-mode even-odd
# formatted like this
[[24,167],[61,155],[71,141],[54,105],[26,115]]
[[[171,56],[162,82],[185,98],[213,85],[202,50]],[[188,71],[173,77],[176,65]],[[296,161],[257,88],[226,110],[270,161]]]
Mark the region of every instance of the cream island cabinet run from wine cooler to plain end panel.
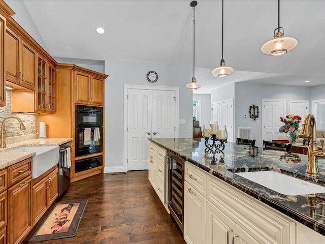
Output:
[[296,222],[185,162],[187,244],[296,243]]

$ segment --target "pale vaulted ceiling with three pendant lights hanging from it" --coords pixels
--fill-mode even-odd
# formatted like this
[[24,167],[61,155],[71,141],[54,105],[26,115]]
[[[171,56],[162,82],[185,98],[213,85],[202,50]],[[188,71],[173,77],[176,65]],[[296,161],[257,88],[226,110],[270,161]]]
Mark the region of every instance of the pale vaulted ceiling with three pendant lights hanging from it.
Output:
[[[23,2],[52,56],[193,65],[191,1]],[[278,25],[278,1],[224,0],[223,57],[235,72],[216,78],[211,71],[221,59],[221,3],[198,0],[195,9],[197,82],[208,87],[242,80],[325,83],[325,1],[281,0],[280,26],[298,45],[285,55],[270,56],[261,46]],[[99,26],[105,34],[95,32]]]

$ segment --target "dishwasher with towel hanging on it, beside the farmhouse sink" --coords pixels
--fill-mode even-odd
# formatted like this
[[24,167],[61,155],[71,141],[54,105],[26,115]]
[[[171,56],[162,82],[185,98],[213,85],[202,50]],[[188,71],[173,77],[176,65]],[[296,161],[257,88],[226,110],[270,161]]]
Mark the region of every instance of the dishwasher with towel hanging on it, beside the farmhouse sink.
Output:
[[71,142],[60,145],[59,151],[59,196],[70,186]]

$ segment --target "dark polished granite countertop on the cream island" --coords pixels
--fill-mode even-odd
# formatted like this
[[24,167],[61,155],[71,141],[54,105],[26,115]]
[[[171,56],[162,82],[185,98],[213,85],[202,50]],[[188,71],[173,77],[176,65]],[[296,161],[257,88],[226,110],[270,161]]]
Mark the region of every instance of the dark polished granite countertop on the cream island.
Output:
[[306,175],[308,162],[306,155],[263,150],[263,148],[256,149],[228,142],[225,143],[224,155],[221,156],[222,154],[217,153],[213,160],[212,154],[205,153],[204,138],[155,138],[149,140],[325,235],[325,193],[287,196],[233,173],[274,170],[325,186],[325,159],[318,159],[320,175],[316,179]]

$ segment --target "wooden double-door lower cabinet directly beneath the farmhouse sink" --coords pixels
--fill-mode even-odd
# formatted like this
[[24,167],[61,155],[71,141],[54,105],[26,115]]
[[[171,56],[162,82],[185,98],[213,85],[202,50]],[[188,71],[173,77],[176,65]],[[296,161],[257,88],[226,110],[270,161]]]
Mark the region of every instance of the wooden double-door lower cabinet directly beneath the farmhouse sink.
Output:
[[32,223],[35,225],[58,197],[58,168],[32,186]]

